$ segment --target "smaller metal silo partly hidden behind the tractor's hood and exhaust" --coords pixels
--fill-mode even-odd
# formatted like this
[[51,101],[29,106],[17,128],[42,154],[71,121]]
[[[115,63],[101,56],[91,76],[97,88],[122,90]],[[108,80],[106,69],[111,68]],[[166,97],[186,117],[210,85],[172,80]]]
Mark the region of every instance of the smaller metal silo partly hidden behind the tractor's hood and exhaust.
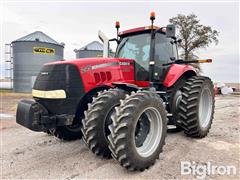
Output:
[[88,57],[102,57],[103,56],[103,44],[98,41],[93,41],[86,46],[75,49],[76,58],[88,58]]

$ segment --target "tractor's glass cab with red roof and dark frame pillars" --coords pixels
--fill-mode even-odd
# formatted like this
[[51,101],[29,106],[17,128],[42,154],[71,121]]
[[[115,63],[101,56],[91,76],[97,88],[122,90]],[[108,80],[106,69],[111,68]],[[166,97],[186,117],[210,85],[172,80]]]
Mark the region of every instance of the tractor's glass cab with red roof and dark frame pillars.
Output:
[[[150,62],[154,63],[153,81],[166,75],[170,63],[178,59],[177,44],[165,28],[147,26],[119,33],[115,57],[135,60],[135,79],[150,80]],[[161,78],[162,77],[162,78]]]

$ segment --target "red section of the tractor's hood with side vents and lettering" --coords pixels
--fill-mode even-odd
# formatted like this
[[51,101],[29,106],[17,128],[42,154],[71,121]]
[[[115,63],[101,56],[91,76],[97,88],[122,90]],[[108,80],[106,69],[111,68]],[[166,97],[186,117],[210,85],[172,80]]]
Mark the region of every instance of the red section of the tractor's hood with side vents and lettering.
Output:
[[134,84],[134,65],[132,59],[123,58],[82,58],[57,61],[52,64],[74,64],[81,75],[86,92],[100,86],[112,86],[113,82]]

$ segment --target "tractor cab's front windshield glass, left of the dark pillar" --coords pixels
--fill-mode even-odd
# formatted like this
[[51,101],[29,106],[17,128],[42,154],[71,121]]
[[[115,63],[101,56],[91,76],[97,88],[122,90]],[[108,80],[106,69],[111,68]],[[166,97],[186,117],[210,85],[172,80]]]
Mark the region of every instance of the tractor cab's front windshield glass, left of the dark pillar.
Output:
[[138,65],[148,71],[150,40],[149,33],[124,37],[118,45],[116,57],[134,59]]

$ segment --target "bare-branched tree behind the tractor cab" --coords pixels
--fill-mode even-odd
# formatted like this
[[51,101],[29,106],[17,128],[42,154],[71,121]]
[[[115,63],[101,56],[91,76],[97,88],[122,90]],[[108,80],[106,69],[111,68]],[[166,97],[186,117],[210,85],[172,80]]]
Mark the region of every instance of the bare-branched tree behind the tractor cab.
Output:
[[[197,58],[195,52],[198,49],[206,48],[211,43],[218,44],[219,32],[210,26],[202,25],[195,14],[178,14],[169,19],[169,22],[178,30],[177,38],[182,40],[179,44],[181,57],[186,61]],[[197,67],[199,68],[198,65]]]

